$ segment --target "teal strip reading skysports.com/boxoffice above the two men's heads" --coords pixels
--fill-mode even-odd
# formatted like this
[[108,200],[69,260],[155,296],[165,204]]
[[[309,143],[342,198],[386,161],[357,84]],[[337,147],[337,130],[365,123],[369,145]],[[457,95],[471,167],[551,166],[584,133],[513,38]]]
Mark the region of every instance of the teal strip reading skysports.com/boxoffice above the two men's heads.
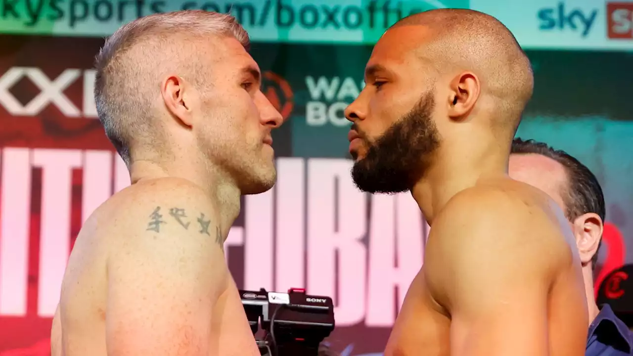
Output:
[[256,42],[373,43],[404,16],[468,8],[468,0],[4,0],[0,30],[101,37],[137,17],[177,10],[230,12]]

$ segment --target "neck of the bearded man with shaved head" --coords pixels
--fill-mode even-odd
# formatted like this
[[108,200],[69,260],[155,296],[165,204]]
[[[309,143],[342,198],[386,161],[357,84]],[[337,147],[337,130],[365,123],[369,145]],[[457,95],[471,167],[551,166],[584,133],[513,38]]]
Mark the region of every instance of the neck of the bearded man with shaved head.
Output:
[[429,226],[455,194],[475,186],[480,180],[499,179],[508,174],[510,148],[500,148],[497,141],[491,140],[489,145],[478,147],[465,148],[463,144],[448,142],[442,146],[435,157],[438,163],[411,188],[413,199]]

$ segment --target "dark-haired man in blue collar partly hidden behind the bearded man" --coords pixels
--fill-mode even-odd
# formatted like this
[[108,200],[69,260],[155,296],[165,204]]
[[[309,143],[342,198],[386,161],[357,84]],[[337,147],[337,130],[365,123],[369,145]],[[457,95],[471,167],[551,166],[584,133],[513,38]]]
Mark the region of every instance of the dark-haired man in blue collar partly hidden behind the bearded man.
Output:
[[512,143],[508,173],[511,178],[548,193],[569,220],[580,253],[587,296],[590,324],[586,355],[632,354],[633,338],[627,326],[609,305],[598,308],[594,298],[593,269],[605,221],[605,198],[598,179],[564,151],[522,139]]

